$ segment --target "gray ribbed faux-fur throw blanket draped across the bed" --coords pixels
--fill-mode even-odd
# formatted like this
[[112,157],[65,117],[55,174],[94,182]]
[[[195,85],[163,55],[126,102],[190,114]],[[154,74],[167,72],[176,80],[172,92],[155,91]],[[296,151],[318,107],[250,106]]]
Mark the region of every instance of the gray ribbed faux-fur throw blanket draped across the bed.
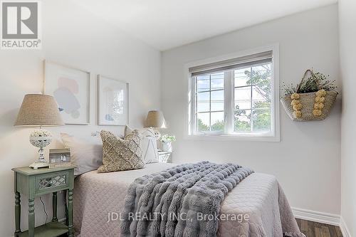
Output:
[[182,164],[130,185],[122,236],[216,236],[221,201],[253,171],[236,164]]

